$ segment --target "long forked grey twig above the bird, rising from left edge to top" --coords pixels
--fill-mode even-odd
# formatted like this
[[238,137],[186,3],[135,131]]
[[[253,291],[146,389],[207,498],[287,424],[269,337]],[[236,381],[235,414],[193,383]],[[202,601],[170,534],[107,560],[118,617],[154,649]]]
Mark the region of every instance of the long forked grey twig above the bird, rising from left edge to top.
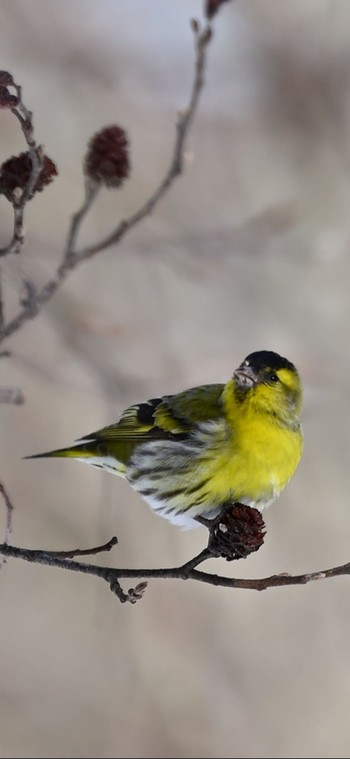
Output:
[[[94,245],[76,250],[76,240],[81,227],[81,223],[90,209],[97,195],[97,188],[90,188],[87,192],[82,207],[74,214],[71,220],[67,235],[67,243],[60,265],[56,273],[41,290],[36,293],[34,302],[24,304],[18,314],[7,324],[2,325],[0,329],[0,342],[10,337],[16,330],[29,319],[36,316],[42,306],[52,298],[58,288],[62,285],[67,275],[83,261],[87,261],[97,253],[101,253],[111,245],[116,245],[124,235],[148,216],[161,200],[163,195],[171,187],[176,177],[183,171],[184,150],[186,139],[195,116],[198,106],[198,100],[204,84],[204,72],[207,58],[207,47],[212,37],[211,27],[207,24],[203,31],[200,30],[198,22],[192,25],[195,40],[195,75],[191,88],[190,99],[187,108],[178,115],[176,125],[175,143],[172,151],[170,165],[166,171],[165,177],[160,182],[155,192],[146,200],[146,202],[132,214],[128,219],[121,221],[107,237],[103,238]],[[28,143],[29,144],[29,143]],[[33,169],[34,170],[34,169]],[[32,185],[31,185],[32,186]]]

